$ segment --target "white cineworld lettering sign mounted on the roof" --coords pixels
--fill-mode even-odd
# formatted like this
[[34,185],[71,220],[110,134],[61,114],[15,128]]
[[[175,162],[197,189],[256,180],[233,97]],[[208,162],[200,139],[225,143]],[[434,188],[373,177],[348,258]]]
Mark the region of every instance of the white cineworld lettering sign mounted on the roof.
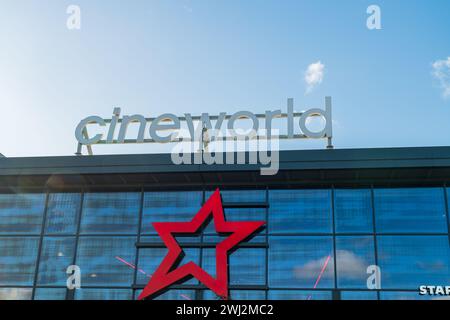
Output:
[[[321,117],[324,120],[323,128],[318,131],[308,129],[307,124],[310,117]],[[285,132],[284,134],[279,134],[280,130],[272,128],[273,121],[277,118],[285,119],[282,121],[282,126],[285,126],[285,128],[281,130]],[[251,123],[251,128],[245,133],[239,132],[239,126],[237,125],[242,120],[247,120]],[[263,114],[238,111],[232,115],[228,115],[226,112],[221,112],[219,115],[202,113],[201,116],[192,116],[190,113],[185,113],[184,116],[180,117],[172,113],[164,113],[154,118],[146,118],[140,114],[122,116],[121,109],[115,108],[110,119],[89,116],[81,120],[76,127],[75,137],[78,141],[78,154],[81,154],[81,146],[87,146],[91,154],[90,147],[94,144],[199,141],[204,130],[226,131],[224,136],[214,140],[233,140],[243,137],[255,138],[255,136],[264,139],[325,138],[328,140],[327,148],[332,148],[331,120],[331,97],[325,98],[325,109],[312,108],[303,112],[294,111],[294,99],[292,98],[287,99],[287,112],[282,112],[278,109],[265,111]],[[212,121],[214,121],[214,127],[212,126]],[[138,130],[136,136],[130,138],[127,137],[127,131],[129,125],[133,123],[138,124]],[[261,129],[261,123],[264,124],[264,129]],[[88,126],[96,126],[96,130],[99,132],[89,136]],[[107,128],[103,129],[102,127]],[[187,136],[183,136],[181,134],[183,132],[186,132]]]

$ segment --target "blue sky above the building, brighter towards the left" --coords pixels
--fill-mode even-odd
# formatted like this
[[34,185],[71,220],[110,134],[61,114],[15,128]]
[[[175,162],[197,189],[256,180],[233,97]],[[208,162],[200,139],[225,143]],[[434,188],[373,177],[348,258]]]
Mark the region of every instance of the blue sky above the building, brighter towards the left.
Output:
[[[81,9],[68,30],[66,9]],[[381,30],[366,9],[381,8]],[[450,2],[2,0],[0,153],[69,155],[88,115],[157,116],[323,107],[336,148],[448,145]],[[305,71],[324,65],[305,95]],[[449,77],[449,67],[442,72]],[[299,141],[289,148],[323,148]],[[155,145],[99,153],[160,152]]]

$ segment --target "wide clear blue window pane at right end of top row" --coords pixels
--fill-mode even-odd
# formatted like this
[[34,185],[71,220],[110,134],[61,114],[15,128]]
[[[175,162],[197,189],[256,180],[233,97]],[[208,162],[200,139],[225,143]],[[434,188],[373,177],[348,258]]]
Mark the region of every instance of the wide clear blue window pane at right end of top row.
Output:
[[376,189],[378,232],[447,232],[442,188]]

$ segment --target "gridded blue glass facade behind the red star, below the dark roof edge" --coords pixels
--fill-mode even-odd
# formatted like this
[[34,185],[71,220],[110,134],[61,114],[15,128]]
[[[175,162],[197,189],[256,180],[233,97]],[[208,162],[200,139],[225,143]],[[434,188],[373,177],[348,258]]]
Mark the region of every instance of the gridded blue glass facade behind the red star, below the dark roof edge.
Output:
[[[167,253],[152,223],[189,221],[211,193],[0,194],[0,299],[135,299]],[[449,188],[221,194],[227,220],[267,222],[229,258],[231,299],[430,299],[420,285],[450,283]],[[183,261],[212,275],[222,239],[211,225],[177,237]],[[70,265],[81,289],[66,287]],[[190,279],[158,299],[218,298]]]

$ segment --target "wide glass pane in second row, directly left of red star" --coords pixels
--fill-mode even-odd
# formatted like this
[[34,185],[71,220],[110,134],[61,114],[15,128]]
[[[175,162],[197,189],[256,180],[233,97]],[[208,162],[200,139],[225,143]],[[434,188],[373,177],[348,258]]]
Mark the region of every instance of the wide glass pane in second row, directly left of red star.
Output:
[[76,264],[81,268],[81,285],[131,285],[135,243],[135,237],[80,237]]

